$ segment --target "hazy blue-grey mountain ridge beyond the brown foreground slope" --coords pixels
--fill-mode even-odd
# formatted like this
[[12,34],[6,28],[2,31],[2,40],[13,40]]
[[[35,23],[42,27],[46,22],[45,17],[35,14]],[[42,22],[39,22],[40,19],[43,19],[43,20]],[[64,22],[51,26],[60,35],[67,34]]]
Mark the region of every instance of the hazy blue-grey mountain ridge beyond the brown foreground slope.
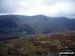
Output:
[[75,31],[75,19],[44,15],[1,15],[0,37]]

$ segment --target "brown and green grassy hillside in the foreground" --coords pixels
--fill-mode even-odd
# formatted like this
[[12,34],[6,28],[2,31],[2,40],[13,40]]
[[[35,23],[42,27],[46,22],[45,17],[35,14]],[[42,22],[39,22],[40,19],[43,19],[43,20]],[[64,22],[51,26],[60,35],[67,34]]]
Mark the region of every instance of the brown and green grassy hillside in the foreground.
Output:
[[0,56],[59,56],[61,51],[75,52],[75,34],[25,35],[0,42]]

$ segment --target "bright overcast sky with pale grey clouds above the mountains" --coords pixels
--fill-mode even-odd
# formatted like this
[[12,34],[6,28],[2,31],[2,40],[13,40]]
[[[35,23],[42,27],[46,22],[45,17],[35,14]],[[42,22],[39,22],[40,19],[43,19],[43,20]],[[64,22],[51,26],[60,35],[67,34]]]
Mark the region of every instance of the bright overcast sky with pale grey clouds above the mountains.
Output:
[[75,0],[0,0],[0,15],[75,17]]

